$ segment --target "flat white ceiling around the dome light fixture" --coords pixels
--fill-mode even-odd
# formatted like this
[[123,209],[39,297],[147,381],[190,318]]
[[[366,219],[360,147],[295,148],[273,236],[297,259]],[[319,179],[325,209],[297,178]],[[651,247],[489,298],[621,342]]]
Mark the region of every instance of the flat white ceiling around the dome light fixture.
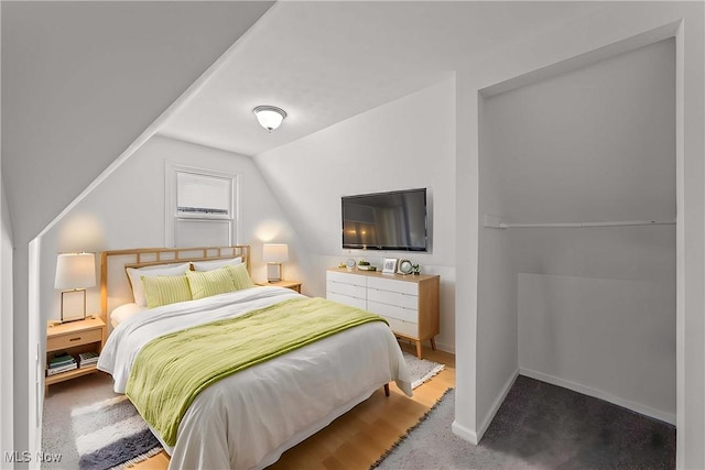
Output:
[[[598,8],[599,2],[279,2],[160,133],[257,155]],[[251,112],[259,105],[281,107],[289,117],[268,133]]]

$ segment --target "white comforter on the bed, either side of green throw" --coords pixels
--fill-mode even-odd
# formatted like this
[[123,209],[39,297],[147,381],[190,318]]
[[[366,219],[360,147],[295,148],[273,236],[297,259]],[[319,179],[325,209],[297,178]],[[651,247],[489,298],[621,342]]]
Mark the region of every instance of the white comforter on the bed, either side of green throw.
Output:
[[[124,393],[138,352],[153,338],[297,296],[267,286],[150,309],[112,331],[98,369],[112,374],[115,391]],[[170,468],[267,467],[392,380],[411,396],[401,350],[381,321],[249,368],[196,397],[181,422],[176,445],[165,447]]]

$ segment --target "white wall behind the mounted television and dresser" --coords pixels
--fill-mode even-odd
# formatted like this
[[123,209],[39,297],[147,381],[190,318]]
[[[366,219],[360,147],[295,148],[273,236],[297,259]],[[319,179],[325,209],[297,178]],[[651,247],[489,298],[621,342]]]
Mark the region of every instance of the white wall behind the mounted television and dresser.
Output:
[[[256,157],[289,220],[305,240],[306,283],[325,296],[325,271],[347,258],[405,258],[441,275],[441,335],[454,350],[455,81],[409,95]],[[343,250],[340,196],[426,187],[429,253]]]

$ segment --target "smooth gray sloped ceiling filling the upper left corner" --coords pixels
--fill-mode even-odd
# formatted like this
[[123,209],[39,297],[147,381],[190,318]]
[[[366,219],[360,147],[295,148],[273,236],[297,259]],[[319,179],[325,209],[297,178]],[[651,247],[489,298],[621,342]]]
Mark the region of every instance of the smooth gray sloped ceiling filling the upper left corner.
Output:
[[2,178],[15,243],[35,237],[271,4],[3,1]]

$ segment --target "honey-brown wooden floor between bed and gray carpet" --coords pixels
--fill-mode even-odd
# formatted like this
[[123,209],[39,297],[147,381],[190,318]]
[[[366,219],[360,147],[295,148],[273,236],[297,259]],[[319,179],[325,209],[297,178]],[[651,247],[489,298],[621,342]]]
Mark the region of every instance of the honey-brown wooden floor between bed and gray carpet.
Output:
[[[415,353],[413,345],[402,349]],[[443,393],[455,386],[455,356],[423,349],[424,359],[446,364],[435,378],[414,389],[406,397],[391,384],[390,396],[382,389],[340,416],[329,426],[288,450],[270,469],[369,469],[377,459],[433,406]],[[158,453],[135,464],[138,469],[166,469],[169,456]]]

